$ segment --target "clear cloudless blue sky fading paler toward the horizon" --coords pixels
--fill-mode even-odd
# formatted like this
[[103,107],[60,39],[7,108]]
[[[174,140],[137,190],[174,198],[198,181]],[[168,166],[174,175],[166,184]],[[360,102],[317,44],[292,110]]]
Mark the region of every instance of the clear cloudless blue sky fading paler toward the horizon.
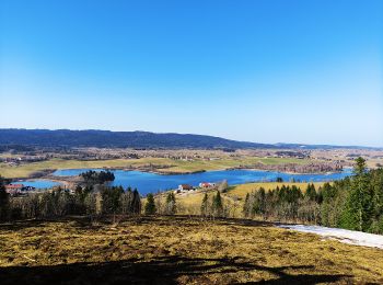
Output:
[[382,0],[0,8],[0,128],[383,147]]

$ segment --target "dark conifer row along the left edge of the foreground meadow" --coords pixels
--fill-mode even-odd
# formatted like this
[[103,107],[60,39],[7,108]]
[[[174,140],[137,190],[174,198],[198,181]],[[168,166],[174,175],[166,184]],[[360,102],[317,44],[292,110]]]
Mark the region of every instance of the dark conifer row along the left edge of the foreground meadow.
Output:
[[74,193],[60,187],[27,196],[10,197],[0,185],[0,220],[56,218],[67,215],[139,215],[141,198],[137,190],[121,186],[78,186]]

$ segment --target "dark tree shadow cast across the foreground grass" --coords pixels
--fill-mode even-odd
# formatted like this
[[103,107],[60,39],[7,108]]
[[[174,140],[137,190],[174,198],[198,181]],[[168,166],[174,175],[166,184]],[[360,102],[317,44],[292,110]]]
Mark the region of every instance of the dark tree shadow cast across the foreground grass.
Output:
[[[46,266],[0,267],[1,284],[212,284],[209,274],[239,271],[268,273],[275,280],[259,283],[317,284],[339,282],[348,275],[301,274],[286,271],[313,271],[312,265],[269,267],[234,259],[194,259],[178,255],[150,261],[129,259],[102,263],[73,263]],[[245,274],[245,273],[244,273]],[[233,276],[223,283],[241,283]],[[230,280],[231,278],[231,280]],[[248,283],[251,284],[251,283]]]

